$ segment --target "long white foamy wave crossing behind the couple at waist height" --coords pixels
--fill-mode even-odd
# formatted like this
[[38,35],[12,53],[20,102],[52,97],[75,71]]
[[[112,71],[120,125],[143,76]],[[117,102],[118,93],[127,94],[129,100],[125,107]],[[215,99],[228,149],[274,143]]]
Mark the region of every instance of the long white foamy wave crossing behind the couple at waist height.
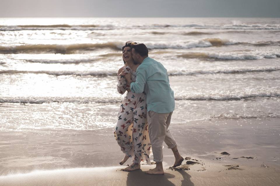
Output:
[[[256,97],[276,97],[280,96],[280,89],[273,88],[253,88],[237,91],[215,90],[208,92],[183,92],[175,93],[175,100],[240,100]],[[118,103],[120,97],[1,97],[0,103]]]

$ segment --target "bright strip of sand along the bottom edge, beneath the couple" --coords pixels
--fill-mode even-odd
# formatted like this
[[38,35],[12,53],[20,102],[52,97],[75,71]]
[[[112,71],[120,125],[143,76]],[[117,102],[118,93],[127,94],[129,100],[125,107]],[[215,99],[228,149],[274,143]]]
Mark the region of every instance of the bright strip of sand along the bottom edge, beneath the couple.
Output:
[[[262,168],[223,170],[210,164],[212,169],[193,166],[188,171],[172,171],[164,166],[164,175],[147,175],[144,171],[155,165],[142,165],[140,170],[120,171],[122,167],[73,168],[33,171],[28,174],[0,176],[3,186],[29,185],[267,185],[280,184],[279,172]],[[214,168],[213,168],[214,167]],[[167,169],[167,170],[166,170]],[[199,169],[199,170],[197,170]],[[247,170],[246,170],[247,169]],[[246,170],[246,171],[245,171]]]

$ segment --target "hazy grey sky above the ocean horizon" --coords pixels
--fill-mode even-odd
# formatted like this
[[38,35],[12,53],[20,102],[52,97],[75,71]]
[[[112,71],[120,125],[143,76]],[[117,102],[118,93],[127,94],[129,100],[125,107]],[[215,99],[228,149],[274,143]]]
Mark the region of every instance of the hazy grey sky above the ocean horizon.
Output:
[[0,0],[0,17],[280,17],[280,0]]

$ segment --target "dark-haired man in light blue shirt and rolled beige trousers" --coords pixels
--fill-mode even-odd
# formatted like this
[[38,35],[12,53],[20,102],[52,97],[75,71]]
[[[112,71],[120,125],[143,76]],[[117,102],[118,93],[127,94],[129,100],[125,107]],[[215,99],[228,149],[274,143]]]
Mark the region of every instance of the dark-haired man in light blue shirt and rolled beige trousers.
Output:
[[[175,108],[174,92],[170,88],[167,70],[156,60],[148,57],[145,44],[132,44],[132,58],[141,64],[136,70],[136,82],[131,81],[131,73],[125,75],[127,84],[134,93],[147,94],[148,129],[156,167],[147,174],[164,174],[162,143],[172,149],[175,156],[173,167],[181,165],[184,158],[179,154],[177,144],[169,132],[172,112]],[[140,167],[139,167],[140,168]]]

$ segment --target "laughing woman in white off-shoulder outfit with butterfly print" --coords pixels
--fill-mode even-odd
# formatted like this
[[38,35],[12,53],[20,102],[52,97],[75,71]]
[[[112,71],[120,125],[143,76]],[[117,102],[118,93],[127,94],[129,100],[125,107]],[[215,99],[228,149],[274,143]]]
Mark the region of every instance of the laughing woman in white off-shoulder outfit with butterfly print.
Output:
[[125,153],[125,157],[120,164],[124,164],[129,157],[134,156],[133,163],[122,169],[123,171],[132,171],[140,169],[140,161],[146,161],[150,164],[150,139],[148,134],[146,94],[136,94],[130,91],[129,85],[126,85],[124,75],[132,74],[132,81],[136,79],[136,69],[139,65],[133,63],[132,48],[133,42],[128,41],[122,47],[122,59],[125,66],[118,71],[117,90],[120,94],[127,91],[118,113],[118,122],[114,132],[115,139]]

